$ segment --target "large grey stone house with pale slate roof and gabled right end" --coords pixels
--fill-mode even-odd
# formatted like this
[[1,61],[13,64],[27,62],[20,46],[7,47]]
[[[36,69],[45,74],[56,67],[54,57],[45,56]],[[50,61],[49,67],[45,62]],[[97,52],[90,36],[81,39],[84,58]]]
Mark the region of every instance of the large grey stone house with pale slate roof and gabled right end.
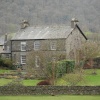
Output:
[[71,59],[75,50],[87,40],[77,22],[72,19],[71,26],[26,25],[10,40],[11,59],[15,64],[23,65],[23,68],[29,58],[36,67],[43,66],[40,63],[43,60]]

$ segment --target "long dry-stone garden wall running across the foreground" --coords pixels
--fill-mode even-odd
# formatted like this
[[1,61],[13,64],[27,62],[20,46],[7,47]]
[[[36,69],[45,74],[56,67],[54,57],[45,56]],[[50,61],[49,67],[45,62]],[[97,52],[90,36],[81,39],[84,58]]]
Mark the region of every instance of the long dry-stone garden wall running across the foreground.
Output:
[[0,95],[100,95],[100,86],[1,86]]

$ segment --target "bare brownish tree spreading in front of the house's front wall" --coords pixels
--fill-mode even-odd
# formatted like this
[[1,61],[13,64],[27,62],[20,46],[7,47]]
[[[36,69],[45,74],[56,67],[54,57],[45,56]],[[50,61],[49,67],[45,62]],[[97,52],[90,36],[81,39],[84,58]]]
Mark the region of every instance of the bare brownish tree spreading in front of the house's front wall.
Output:
[[56,54],[57,51],[31,51],[27,55],[26,68],[30,75],[50,80],[54,85],[56,81],[57,61],[64,59],[62,53]]

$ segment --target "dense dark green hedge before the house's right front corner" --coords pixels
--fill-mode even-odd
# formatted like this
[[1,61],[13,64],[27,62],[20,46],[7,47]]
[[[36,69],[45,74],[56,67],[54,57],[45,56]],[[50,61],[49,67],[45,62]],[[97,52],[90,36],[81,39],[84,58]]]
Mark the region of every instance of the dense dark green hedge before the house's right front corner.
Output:
[[65,73],[73,72],[74,65],[75,65],[75,61],[62,60],[62,61],[56,62],[55,66],[53,66],[52,62],[50,62],[47,66],[48,76],[52,76],[54,72],[55,77],[57,78],[62,77]]

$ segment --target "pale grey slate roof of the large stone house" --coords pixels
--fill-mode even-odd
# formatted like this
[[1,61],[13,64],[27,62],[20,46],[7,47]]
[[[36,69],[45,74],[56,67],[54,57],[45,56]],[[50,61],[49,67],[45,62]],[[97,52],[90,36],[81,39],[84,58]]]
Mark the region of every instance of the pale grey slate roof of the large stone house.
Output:
[[27,27],[17,32],[11,40],[67,38],[71,31],[70,26]]

